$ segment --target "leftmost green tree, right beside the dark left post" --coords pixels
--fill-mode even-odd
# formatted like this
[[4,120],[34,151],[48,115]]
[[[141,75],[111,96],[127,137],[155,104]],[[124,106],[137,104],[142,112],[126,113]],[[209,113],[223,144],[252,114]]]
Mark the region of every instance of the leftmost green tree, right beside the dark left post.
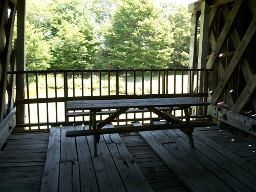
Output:
[[45,39],[47,4],[45,1],[27,0],[26,5],[26,70],[47,70],[52,59],[51,46]]

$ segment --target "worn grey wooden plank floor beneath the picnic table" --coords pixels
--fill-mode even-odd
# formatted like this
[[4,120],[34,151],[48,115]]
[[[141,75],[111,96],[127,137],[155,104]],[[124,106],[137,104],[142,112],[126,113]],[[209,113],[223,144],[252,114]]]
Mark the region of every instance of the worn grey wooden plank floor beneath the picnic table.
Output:
[[65,137],[74,129],[11,134],[1,191],[256,191],[256,144],[218,127],[197,128],[196,148],[179,130],[104,135],[97,157],[92,136]]

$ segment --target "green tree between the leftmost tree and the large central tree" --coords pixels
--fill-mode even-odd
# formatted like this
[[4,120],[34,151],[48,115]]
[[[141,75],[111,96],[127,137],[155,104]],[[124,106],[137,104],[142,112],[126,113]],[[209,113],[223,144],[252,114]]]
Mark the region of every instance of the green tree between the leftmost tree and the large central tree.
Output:
[[51,12],[52,69],[92,69],[100,41],[86,2],[54,1]]

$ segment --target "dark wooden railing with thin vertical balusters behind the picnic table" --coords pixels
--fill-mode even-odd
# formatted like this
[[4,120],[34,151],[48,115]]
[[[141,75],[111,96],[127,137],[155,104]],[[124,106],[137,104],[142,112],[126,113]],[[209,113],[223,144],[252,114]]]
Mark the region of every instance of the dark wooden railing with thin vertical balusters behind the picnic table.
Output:
[[[74,121],[88,123],[87,117],[66,116],[68,100],[190,96],[207,101],[212,72],[212,70],[173,69],[15,71],[9,72],[9,75],[16,75],[16,79],[25,75],[26,96],[25,98],[9,97],[7,102],[14,100],[17,111],[19,106],[25,105],[25,123],[17,122],[16,128],[45,130],[50,129],[52,125],[73,124]],[[17,119],[19,119],[18,115],[17,113]],[[194,110],[196,119],[205,115],[205,109]],[[126,114],[126,120],[117,119],[116,122],[127,123],[127,119],[144,122],[154,118],[152,114],[147,116],[146,112],[141,113],[139,117],[136,113],[133,113],[133,117]],[[99,115],[99,118],[102,119],[102,115]],[[182,112],[180,118],[183,118]]]

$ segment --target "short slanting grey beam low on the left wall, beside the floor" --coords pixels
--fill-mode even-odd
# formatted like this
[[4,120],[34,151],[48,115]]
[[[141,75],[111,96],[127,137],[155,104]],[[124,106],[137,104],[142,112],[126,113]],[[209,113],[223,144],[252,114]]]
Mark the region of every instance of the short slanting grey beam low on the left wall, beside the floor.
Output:
[[14,108],[0,123],[0,148],[16,125],[16,108]]

